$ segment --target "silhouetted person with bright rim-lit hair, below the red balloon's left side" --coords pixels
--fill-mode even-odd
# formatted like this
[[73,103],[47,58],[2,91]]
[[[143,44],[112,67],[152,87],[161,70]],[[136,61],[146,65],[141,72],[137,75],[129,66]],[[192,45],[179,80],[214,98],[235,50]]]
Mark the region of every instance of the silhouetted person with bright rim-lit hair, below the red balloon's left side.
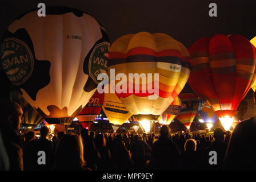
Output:
[[182,154],[182,170],[198,170],[200,168],[200,156],[197,153],[197,141],[188,139]]

